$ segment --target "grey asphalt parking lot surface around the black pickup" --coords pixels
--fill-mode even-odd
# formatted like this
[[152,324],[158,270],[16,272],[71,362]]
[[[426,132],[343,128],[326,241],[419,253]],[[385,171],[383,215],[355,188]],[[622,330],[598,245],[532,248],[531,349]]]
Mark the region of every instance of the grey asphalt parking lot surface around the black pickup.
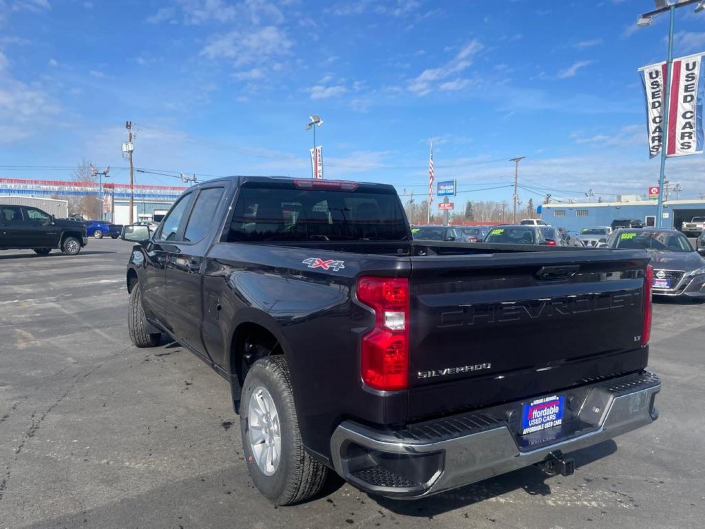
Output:
[[331,479],[276,508],[242,461],[226,382],[176,343],[130,344],[130,244],[0,253],[0,528],[696,528],[705,515],[705,305],[657,301],[661,418],[574,453],[413,502]]

